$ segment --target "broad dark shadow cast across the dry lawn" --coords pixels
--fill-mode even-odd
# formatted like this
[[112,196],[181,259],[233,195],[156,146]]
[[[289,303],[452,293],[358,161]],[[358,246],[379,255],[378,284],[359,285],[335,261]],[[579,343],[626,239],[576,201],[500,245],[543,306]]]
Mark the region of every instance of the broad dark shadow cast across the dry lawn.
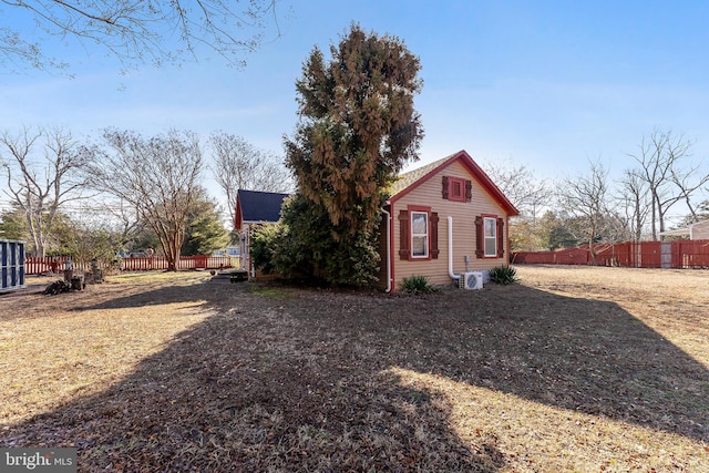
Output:
[[[0,433],[80,449],[81,470],[482,471],[450,405],[391,367],[709,441],[709,373],[615,304],[523,286],[425,298],[248,285],[166,288],[100,307],[208,300],[218,313],[121,383]],[[281,291],[281,289],[278,289]]]

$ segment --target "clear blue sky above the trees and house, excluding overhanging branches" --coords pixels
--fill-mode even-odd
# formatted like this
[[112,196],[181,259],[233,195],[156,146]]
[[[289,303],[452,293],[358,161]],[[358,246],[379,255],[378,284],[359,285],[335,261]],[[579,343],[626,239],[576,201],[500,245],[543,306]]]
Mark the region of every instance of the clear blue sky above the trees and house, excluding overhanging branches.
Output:
[[81,61],[78,76],[0,72],[0,125],[86,135],[106,126],[223,130],[282,154],[302,62],[356,21],[401,38],[421,59],[415,106],[425,138],[415,165],[464,148],[481,164],[511,160],[540,178],[583,174],[589,160],[616,177],[655,128],[695,140],[698,162],[709,153],[709,2],[284,3],[281,38],[249,55],[244,70],[203,59],[120,75],[111,60],[50,45]]

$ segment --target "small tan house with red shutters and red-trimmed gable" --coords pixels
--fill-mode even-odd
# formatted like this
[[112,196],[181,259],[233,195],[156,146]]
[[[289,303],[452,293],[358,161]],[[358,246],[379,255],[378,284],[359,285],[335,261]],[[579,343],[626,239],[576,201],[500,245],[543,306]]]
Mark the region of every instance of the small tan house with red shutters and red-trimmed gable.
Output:
[[465,152],[402,174],[384,207],[380,286],[425,276],[433,285],[510,264],[510,217],[520,212]]

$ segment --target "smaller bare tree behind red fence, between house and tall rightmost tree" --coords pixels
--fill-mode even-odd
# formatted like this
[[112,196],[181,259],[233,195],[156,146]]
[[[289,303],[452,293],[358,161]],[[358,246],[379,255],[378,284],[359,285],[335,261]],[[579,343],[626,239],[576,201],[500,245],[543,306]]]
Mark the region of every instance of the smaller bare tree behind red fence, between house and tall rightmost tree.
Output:
[[587,175],[567,178],[558,189],[558,202],[564,212],[573,219],[584,235],[596,264],[594,244],[602,234],[610,216],[608,205],[608,172],[598,162],[590,163]]

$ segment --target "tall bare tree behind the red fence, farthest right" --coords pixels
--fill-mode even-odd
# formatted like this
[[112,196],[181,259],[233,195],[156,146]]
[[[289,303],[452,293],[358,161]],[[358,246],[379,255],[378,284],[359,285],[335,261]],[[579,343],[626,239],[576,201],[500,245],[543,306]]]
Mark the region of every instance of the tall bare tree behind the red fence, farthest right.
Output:
[[[638,176],[647,184],[650,193],[650,224],[653,239],[665,230],[667,212],[680,200],[685,200],[690,212],[692,194],[709,182],[709,175],[699,173],[698,165],[684,167],[690,157],[692,142],[685,135],[672,132],[654,131],[649,137],[643,137],[639,153],[630,155],[638,162]],[[659,230],[658,230],[659,228]]]

